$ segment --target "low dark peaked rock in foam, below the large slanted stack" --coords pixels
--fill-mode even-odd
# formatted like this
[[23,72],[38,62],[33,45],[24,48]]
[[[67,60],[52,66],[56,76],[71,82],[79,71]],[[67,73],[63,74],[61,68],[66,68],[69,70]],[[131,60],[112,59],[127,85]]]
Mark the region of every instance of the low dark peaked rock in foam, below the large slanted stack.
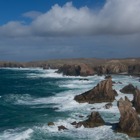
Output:
[[100,114],[98,112],[92,112],[87,120],[77,123],[76,128],[79,128],[82,125],[85,128],[93,128],[93,127],[102,126],[104,124],[105,122],[100,116]]

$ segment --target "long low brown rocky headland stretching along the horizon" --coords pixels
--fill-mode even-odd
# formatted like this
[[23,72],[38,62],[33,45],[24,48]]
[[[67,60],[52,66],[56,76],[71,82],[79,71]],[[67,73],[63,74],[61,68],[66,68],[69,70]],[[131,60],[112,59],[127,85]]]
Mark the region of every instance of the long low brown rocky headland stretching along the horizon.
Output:
[[103,74],[140,75],[140,58],[130,59],[61,59],[34,62],[1,61],[0,67],[40,67],[43,69],[58,69],[58,73],[68,76],[90,76]]

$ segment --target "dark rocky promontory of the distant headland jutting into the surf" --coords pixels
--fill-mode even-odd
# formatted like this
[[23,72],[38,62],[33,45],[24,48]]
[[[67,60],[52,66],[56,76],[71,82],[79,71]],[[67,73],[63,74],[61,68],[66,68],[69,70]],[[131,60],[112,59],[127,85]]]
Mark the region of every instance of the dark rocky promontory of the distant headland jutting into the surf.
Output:
[[93,69],[86,64],[70,65],[65,64],[59,68],[58,73],[63,73],[63,75],[68,76],[88,76],[93,75]]

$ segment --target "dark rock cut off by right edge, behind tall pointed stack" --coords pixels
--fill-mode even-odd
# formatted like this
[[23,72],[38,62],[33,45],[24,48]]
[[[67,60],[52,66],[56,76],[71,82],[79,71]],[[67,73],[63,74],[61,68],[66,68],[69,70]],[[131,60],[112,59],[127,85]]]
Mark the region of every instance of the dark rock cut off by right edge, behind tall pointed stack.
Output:
[[136,108],[136,111],[140,113],[140,90],[139,89],[135,90],[133,105]]

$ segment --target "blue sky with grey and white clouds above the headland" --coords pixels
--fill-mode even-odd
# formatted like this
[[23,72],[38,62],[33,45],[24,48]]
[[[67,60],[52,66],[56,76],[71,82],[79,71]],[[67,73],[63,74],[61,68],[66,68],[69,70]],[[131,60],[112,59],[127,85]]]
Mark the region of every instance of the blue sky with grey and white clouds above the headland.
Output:
[[140,57],[140,0],[0,0],[0,60]]

